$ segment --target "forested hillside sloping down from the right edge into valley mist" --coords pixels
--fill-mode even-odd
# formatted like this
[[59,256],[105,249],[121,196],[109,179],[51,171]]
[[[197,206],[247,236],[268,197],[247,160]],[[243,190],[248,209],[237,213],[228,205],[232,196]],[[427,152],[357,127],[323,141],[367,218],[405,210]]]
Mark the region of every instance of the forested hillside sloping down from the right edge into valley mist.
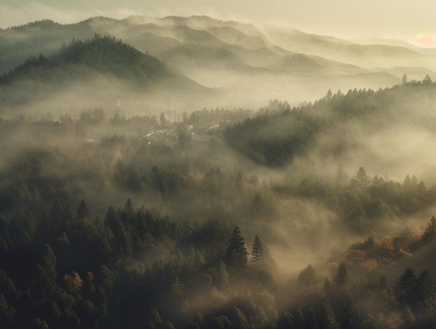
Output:
[[288,102],[271,101],[258,116],[227,128],[224,138],[255,162],[280,167],[315,150],[340,156],[386,128],[408,125],[431,131],[435,101],[436,83],[428,75],[418,82],[407,82],[405,76],[402,84],[378,91],[329,90],[313,104],[292,109]]

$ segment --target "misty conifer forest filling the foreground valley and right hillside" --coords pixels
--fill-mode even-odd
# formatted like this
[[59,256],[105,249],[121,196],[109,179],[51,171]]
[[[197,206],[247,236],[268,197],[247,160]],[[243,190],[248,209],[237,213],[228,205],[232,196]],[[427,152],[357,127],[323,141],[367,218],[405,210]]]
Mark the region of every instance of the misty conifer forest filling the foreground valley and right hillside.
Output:
[[[85,60],[82,45],[67,49]],[[203,109],[182,116],[172,146],[142,138],[165,116],[1,119],[1,327],[434,328],[436,220],[421,212],[435,182],[340,161],[290,181],[286,166],[311,152],[340,159],[388,125],[435,127],[435,96],[430,77],[404,77],[257,114]],[[239,122],[190,141],[187,127],[210,121]],[[283,260],[343,236],[322,261]]]

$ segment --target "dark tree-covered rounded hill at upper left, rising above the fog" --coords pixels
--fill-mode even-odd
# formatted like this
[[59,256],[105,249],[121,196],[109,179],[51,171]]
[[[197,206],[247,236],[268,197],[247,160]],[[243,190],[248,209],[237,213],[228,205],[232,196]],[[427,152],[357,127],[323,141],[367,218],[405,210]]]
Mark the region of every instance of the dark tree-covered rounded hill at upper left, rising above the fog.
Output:
[[157,82],[166,86],[194,86],[203,89],[189,78],[171,70],[154,56],[116,40],[95,35],[92,40],[72,40],[59,54],[49,58],[31,56],[20,66],[3,75],[1,85],[31,80],[36,84],[65,85],[81,79],[104,76],[143,88]]

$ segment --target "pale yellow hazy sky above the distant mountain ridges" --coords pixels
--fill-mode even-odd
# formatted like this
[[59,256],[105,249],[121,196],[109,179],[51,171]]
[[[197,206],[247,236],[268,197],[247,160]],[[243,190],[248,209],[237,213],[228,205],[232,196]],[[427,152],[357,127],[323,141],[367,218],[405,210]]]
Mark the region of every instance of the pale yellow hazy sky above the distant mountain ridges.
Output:
[[436,0],[0,0],[0,27],[44,18],[79,22],[96,15],[209,15],[274,22],[341,38],[399,38],[436,47],[435,13]]

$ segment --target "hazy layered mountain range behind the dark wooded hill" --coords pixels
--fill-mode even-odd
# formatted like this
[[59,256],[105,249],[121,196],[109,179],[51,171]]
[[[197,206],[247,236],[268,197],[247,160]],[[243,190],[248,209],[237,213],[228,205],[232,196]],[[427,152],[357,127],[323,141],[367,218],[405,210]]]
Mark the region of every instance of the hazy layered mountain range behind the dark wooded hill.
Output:
[[[122,38],[143,52],[149,52],[169,65],[185,67],[226,66],[233,69],[249,67],[281,68],[283,58],[306,54],[324,59],[322,66],[331,65],[325,74],[356,74],[356,68],[338,68],[338,62],[371,68],[396,66],[416,67],[417,63],[432,63],[426,52],[398,40],[361,39],[355,42],[330,36],[318,36],[295,29],[266,27],[260,31],[252,24],[215,20],[211,17],[132,16],[125,20],[93,17],[77,24],[58,24],[50,20],[33,22],[0,30],[0,63],[4,73],[27,57],[39,53],[54,53],[63,43],[75,38],[86,40],[95,33]],[[421,49],[422,50],[422,49]],[[289,57],[291,56],[291,57]],[[189,57],[190,61],[186,61]],[[312,58],[316,70],[320,59]],[[328,61],[335,63],[329,63]],[[389,65],[390,63],[390,65]],[[299,63],[289,62],[290,71],[304,74]],[[433,66],[436,63],[433,62]],[[430,68],[431,69],[431,68]]]

